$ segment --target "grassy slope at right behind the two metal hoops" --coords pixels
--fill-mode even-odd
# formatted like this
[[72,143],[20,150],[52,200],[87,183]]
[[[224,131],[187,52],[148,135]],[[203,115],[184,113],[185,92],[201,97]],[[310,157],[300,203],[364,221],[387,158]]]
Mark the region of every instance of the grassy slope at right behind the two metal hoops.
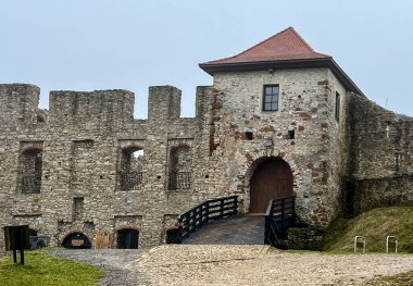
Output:
[[325,236],[325,250],[353,251],[354,236],[364,236],[366,252],[385,252],[386,237],[399,238],[399,252],[413,253],[413,208],[378,208],[350,220],[342,217],[331,223]]

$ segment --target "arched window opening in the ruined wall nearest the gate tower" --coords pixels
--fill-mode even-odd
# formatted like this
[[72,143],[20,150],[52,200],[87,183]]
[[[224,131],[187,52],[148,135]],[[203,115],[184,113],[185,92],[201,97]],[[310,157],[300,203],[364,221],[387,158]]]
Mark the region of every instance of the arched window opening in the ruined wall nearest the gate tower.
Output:
[[192,153],[189,146],[178,146],[170,151],[170,189],[191,188]]

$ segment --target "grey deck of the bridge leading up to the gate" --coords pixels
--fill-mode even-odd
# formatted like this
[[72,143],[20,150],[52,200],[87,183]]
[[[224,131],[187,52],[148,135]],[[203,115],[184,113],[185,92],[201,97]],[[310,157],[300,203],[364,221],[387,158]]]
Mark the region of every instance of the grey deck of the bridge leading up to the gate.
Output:
[[263,245],[264,215],[240,215],[210,222],[183,240],[188,245]]

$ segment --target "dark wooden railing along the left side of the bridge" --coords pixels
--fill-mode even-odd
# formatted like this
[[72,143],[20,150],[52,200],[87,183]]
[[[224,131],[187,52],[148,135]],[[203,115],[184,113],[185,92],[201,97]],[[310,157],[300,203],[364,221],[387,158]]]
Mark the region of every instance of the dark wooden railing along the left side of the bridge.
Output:
[[206,200],[178,217],[179,240],[189,237],[210,221],[215,221],[238,213],[238,196],[230,196],[220,199]]

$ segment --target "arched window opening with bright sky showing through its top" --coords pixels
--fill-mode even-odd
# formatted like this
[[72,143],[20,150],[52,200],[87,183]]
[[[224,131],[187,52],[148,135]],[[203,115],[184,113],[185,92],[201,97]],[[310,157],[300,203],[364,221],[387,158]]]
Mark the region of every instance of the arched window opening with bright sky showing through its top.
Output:
[[143,174],[143,149],[125,148],[121,158],[121,189],[139,189],[142,185]]

